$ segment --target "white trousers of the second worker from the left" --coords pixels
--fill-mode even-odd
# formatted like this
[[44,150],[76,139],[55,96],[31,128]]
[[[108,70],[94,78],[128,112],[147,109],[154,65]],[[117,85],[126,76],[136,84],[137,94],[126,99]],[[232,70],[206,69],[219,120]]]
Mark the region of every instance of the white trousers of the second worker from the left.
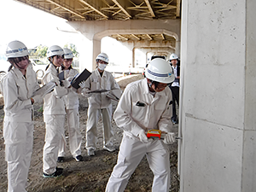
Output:
[[65,114],[45,114],[44,122],[43,172],[52,174],[56,171],[59,145],[64,135]]

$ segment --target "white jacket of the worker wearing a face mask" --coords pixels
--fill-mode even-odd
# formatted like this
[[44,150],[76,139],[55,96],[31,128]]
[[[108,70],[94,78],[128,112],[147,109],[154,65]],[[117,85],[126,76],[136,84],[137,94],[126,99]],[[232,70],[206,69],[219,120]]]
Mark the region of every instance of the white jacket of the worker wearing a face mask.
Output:
[[[82,90],[82,94],[88,90],[120,90],[119,84],[113,78],[113,75],[104,70],[101,75],[98,69],[94,70],[90,77],[85,81],[85,87]],[[111,99],[109,99],[106,95],[108,92],[102,93],[93,93],[89,98],[89,106],[92,108],[108,108],[111,105]]]

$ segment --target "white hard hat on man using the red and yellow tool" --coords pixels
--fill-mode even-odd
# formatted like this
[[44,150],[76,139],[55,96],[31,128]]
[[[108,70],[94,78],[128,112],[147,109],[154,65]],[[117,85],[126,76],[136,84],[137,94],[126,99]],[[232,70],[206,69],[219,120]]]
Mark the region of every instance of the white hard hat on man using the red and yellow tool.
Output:
[[146,68],[145,76],[147,79],[151,79],[163,84],[171,84],[175,79],[169,62],[160,58],[155,58],[149,62],[148,67]]

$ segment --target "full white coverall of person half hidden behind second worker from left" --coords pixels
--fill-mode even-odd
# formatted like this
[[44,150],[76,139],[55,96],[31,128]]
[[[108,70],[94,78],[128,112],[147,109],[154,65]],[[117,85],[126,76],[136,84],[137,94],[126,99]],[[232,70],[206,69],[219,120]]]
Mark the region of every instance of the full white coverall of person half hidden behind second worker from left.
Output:
[[[61,73],[61,72],[60,72]],[[79,72],[76,69],[64,70],[65,79],[73,78]],[[81,143],[82,134],[79,130],[79,96],[77,90],[73,87],[68,88],[67,96],[63,96],[65,102],[65,108],[67,113],[67,131],[69,137],[69,149],[70,153],[75,158],[81,155]],[[66,154],[66,137],[61,137],[61,143],[59,148],[59,157],[64,157]]]

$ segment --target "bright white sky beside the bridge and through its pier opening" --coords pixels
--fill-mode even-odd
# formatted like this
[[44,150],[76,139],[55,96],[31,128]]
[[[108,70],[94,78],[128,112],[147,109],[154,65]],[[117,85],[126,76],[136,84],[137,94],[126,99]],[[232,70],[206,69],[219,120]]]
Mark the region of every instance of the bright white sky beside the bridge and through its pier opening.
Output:
[[[40,44],[48,47],[75,44],[78,51],[81,42],[86,44],[89,41],[75,32],[67,20],[14,0],[0,0],[0,26],[0,56],[5,54],[7,45],[13,40],[21,41],[28,49]],[[131,50],[113,38],[102,38],[102,52],[116,64],[126,62],[125,65],[129,66],[131,63]]]

